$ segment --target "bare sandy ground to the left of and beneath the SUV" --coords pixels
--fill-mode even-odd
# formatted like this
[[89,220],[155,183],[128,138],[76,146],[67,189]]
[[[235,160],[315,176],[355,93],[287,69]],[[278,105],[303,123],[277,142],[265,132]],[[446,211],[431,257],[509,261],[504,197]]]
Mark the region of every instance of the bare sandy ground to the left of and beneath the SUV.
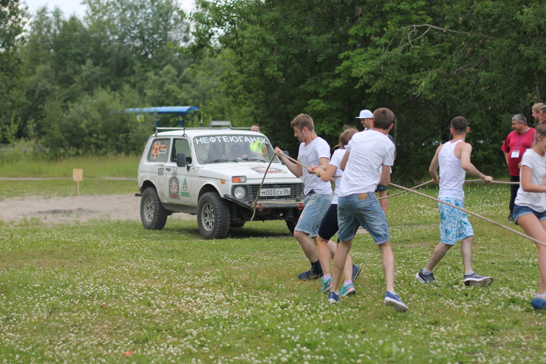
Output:
[[[132,194],[80,197],[15,197],[0,201],[0,220],[38,218],[43,222],[71,222],[93,219],[140,221],[140,197]],[[169,219],[193,219],[176,213]]]

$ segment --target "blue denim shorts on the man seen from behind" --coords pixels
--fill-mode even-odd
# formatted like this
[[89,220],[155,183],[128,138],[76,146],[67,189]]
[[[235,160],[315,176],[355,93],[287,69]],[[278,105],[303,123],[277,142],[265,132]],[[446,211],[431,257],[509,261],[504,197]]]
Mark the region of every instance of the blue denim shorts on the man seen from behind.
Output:
[[[359,196],[366,198],[359,199]],[[376,244],[390,241],[387,219],[374,192],[339,197],[337,221],[340,226],[337,236],[344,242],[354,237],[355,228],[358,226],[365,228]]]

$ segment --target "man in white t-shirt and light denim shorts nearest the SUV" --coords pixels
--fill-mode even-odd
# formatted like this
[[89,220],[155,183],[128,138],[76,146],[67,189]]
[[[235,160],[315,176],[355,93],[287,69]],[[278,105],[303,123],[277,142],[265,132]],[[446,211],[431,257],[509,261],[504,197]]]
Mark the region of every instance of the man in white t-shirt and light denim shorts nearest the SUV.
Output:
[[[311,263],[311,269],[298,275],[301,280],[321,278],[323,275],[321,262],[318,260],[315,248],[318,227],[321,220],[330,207],[332,201],[332,187],[329,182],[324,182],[314,174],[314,168],[326,170],[330,160],[330,146],[326,140],[317,136],[314,131],[313,119],[307,114],[299,114],[292,120],[290,126],[294,128],[294,137],[301,142],[298,161],[309,167],[303,170],[301,165],[293,163],[287,157],[280,155],[282,150],[275,147],[275,154],[296,177],[304,179],[305,207],[301,212],[298,224],[294,228],[294,237],[301,245],[307,259]],[[314,242],[313,242],[314,240]]]

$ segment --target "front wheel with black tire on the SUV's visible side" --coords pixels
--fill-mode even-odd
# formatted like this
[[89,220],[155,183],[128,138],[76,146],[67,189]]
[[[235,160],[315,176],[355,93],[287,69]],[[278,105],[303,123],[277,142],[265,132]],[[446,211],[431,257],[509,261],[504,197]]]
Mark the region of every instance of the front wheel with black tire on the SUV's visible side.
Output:
[[205,239],[224,239],[229,230],[229,206],[217,192],[207,192],[197,204],[197,225]]

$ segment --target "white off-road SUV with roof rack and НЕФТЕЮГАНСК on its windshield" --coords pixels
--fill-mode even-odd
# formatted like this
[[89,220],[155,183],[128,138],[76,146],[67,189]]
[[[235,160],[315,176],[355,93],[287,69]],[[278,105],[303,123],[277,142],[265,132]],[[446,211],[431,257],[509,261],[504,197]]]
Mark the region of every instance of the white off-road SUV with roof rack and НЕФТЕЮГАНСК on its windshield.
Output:
[[176,130],[153,134],[140,159],[145,228],[161,230],[168,215],[183,212],[197,215],[205,239],[223,239],[230,227],[251,220],[285,220],[293,232],[303,208],[303,183],[277,157],[266,173],[274,151],[264,134],[170,129]]

